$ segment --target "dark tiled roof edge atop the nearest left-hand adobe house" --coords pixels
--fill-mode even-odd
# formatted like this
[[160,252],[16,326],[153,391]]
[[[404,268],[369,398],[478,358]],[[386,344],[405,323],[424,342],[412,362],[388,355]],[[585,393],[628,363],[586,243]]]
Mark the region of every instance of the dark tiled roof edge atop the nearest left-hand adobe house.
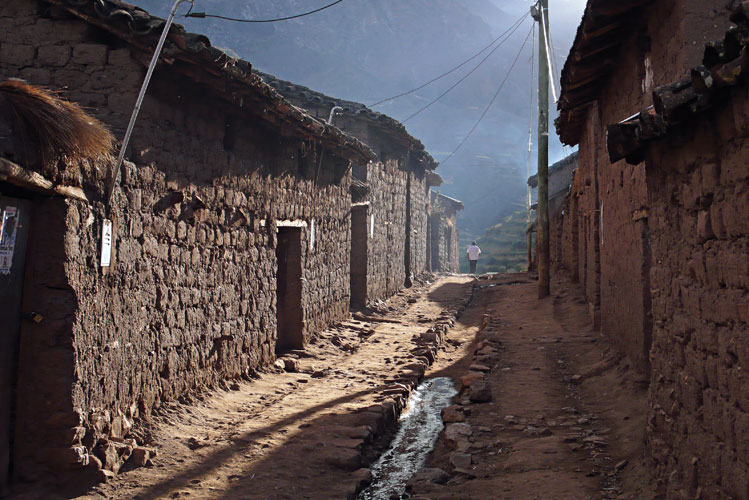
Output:
[[[165,20],[120,0],[44,0],[98,26],[131,46],[153,53]],[[211,47],[210,40],[179,24],[169,31],[163,62],[205,85],[216,97],[263,120],[283,135],[319,141],[339,156],[367,163],[376,158],[361,141],[294,106],[252,73],[248,61]],[[291,85],[291,84],[289,84]]]

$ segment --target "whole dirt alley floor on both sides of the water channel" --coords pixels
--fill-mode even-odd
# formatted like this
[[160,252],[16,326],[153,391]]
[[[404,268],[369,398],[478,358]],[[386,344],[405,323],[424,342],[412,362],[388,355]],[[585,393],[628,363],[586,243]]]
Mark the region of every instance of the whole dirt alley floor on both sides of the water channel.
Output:
[[539,301],[528,274],[404,291],[275,371],[163,407],[143,436],[146,466],[77,498],[353,499],[423,377],[460,393],[409,491],[382,498],[654,498],[646,380],[607,349],[579,297],[557,283]]

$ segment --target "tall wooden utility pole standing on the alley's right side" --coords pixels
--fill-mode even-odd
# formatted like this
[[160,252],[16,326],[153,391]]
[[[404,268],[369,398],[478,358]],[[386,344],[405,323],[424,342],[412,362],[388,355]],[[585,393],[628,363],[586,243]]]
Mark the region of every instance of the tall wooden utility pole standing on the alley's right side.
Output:
[[536,209],[536,242],[538,252],[538,298],[550,294],[549,276],[549,67],[546,47],[549,36],[549,0],[539,0],[531,7],[538,30],[538,208]]

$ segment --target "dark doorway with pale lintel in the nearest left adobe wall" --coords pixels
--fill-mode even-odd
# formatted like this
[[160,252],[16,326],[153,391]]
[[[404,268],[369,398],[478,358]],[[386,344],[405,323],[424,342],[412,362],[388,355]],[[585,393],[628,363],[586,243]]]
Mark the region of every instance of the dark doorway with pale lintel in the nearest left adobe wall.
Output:
[[279,227],[276,246],[276,354],[304,347],[302,333],[302,229]]

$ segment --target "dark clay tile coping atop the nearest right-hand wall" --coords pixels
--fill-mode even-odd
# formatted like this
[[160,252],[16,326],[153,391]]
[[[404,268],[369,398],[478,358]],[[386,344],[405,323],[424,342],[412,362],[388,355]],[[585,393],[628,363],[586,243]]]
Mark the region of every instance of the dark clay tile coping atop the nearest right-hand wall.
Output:
[[749,82],[749,2],[742,2],[732,13],[731,27],[722,40],[705,46],[702,65],[689,76],[653,90],[653,106],[608,125],[606,146],[611,163],[626,159],[640,163],[648,142],[666,136],[674,126],[694,120],[697,115],[724,101],[735,86]]

